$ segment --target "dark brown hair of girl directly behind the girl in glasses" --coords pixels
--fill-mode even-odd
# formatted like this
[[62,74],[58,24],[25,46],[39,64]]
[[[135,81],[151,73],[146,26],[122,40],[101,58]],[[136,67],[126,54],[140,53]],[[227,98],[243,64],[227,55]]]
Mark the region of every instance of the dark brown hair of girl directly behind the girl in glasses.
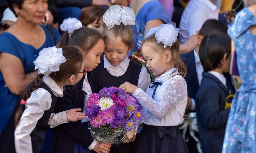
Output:
[[58,46],[76,46],[83,50],[83,52],[88,52],[95,46],[99,39],[103,40],[103,37],[97,30],[83,27],[74,30],[70,38],[66,31],[62,35]]

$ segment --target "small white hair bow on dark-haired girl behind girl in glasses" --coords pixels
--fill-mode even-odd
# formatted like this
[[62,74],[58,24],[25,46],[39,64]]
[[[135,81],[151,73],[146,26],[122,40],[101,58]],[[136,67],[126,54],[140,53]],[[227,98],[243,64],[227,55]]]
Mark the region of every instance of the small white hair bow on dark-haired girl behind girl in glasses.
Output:
[[61,31],[68,31],[69,37],[73,34],[74,30],[77,30],[81,27],[83,27],[81,21],[74,17],[65,19],[60,25]]

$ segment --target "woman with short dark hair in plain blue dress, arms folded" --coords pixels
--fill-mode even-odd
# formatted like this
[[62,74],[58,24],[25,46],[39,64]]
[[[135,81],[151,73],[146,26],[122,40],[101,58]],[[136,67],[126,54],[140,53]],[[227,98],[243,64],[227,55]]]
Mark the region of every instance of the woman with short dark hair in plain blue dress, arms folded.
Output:
[[39,25],[45,17],[47,1],[8,1],[18,16],[16,23],[0,35],[0,133],[14,109],[19,95],[36,77],[33,61],[39,51],[56,45],[60,34],[52,35],[46,26]]

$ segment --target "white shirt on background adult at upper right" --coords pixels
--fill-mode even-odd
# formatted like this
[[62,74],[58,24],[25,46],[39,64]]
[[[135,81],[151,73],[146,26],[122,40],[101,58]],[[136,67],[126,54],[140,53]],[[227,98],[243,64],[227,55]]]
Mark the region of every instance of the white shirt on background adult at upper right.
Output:
[[209,0],[191,0],[188,2],[179,26],[180,44],[184,44],[196,31],[200,30],[208,19],[217,19],[219,8]]

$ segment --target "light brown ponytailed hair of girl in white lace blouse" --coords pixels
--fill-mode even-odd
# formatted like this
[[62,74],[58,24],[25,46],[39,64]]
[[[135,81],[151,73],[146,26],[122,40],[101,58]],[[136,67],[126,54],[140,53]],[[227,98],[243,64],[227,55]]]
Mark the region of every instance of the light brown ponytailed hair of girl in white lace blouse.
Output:
[[157,43],[155,34],[152,34],[149,37],[147,37],[147,39],[143,42],[142,45],[145,45],[145,44],[150,44],[156,52],[160,52],[161,54],[164,54],[166,52],[171,52],[173,64],[174,64],[174,67],[176,67],[176,70],[173,71],[172,73],[179,71],[179,75],[181,75],[182,77],[186,76],[187,67],[179,58],[179,41],[178,41],[178,39],[175,43],[172,44],[171,48],[170,47],[164,48],[164,44],[161,42]]

